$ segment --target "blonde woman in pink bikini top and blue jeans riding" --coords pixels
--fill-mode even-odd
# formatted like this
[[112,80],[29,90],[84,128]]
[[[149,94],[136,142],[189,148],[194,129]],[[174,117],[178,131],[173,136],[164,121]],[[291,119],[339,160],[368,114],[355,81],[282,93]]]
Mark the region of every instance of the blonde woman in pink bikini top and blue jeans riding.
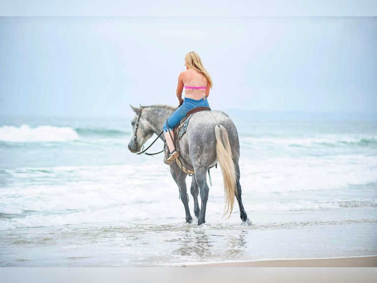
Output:
[[[189,52],[185,56],[186,71],[179,74],[177,86],[177,98],[180,106],[175,110],[165,121],[163,125],[164,136],[169,147],[169,154],[166,161],[173,161],[178,157],[178,152],[174,146],[173,128],[181,122],[182,118],[186,116],[188,110],[207,106],[208,96],[210,95],[210,88],[212,88],[212,79],[210,74],[204,68],[200,57],[195,52]],[[185,87],[185,99],[182,99],[183,88]],[[168,129],[169,125],[169,129]]]

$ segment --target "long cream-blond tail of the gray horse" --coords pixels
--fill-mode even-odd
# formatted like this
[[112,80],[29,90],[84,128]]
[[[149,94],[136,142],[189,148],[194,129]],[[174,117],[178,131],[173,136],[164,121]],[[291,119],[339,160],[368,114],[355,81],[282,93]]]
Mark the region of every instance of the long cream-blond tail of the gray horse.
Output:
[[233,211],[234,196],[237,192],[236,170],[226,129],[222,125],[216,125],[215,136],[217,141],[216,154],[224,181],[225,205],[224,214],[222,216],[229,213],[228,217],[226,217],[226,219],[228,219]]

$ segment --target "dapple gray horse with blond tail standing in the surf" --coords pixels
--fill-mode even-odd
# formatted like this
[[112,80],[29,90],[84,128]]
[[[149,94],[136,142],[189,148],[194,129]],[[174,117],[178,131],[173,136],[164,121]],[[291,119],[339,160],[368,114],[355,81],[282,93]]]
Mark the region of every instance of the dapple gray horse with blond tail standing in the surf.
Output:
[[[142,145],[153,136],[162,132],[163,123],[174,111],[172,106],[152,105],[131,106],[136,113],[131,121],[132,136],[128,143],[131,152],[140,152]],[[163,135],[160,136],[163,140]],[[180,139],[180,156],[193,168],[195,174],[191,181],[191,194],[194,198],[194,213],[198,217],[198,225],[205,222],[209,187],[207,185],[207,170],[220,164],[224,192],[225,209],[230,214],[233,211],[234,196],[240,208],[242,221],[250,224],[241,200],[240,144],[237,129],[224,112],[201,111],[195,113],[188,123],[186,134]],[[161,160],[162,163],[162,160]],[[180,174],[177,174],[180,173]],[[186,211],[186,222],[191,223],[192,217],[188,208],[186,187],[187,174],[181,172],[176,162],[170,165],[170,173],[178,185],[181,200]],[[201,207],[199,209],[198,194],[200,189]],[[228,217],[229,217],[228,216]]]

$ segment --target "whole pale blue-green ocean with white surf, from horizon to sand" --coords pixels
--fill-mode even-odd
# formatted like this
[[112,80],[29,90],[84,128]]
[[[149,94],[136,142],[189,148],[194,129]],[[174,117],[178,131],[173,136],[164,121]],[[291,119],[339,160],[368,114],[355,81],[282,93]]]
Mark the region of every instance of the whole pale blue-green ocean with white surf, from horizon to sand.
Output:
[[377,255],[376,120],[232,118],[250,226],[221,218],[220,168],[185,223],[162,154],[128,151],[131,117],[0,116],[0,266]]

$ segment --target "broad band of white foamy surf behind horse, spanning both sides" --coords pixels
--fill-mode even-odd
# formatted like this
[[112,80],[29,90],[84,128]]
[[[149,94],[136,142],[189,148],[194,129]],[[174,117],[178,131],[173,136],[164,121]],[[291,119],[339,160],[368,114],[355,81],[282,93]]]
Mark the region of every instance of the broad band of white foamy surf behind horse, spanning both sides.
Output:
[[[248,211],[285,212],[377,205],[376,199],[369,199],[369,196],[355,199],[340,195],[340,200],[330,201],[279,197],[291,192],[309,196],[310,191],[317,191],[316,195],[320,196],[321,191],[375,182],[375,156],[254,160],[241,157],[240,169],[242,196]],[[19,215],[0,219],[0,230],[185,217],[177,185],[169,167],[161,166],[160,159],[145,158],[145,163],[136,164],[19,168],[5,169],[4,172],[14,181],[0,190],[0,213]],[[207,216],[217,221],[224,204],[220,168],[212,169],[211,177],[213,187],[210,187]],[[192,213],[190,182],[188,177]],[[266,198],[266,195],[273,196],[273,199]],[[237,214],[232,215],[238,221]]]

